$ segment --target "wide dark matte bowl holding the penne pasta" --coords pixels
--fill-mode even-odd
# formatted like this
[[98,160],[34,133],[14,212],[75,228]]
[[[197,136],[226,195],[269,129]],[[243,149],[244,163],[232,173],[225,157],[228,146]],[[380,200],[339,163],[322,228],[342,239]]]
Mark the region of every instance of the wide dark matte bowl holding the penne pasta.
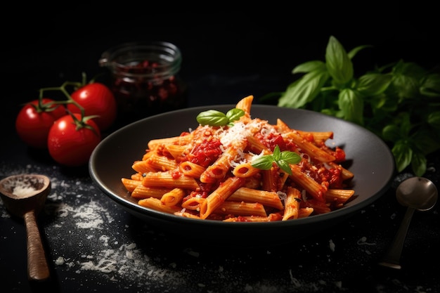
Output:
[[141,159],[150,139],[178,136],[182,131],[195,129],[198,126],[195,117],[204,110],[227,112],[231,108],[235,105],[176,110],[124,126],[104,138],[93,151],[89,161],[93,182],[122,208],[164,233],[201,243],[226,245],[240,242],[241,245],[256,246],[289,242],[331,228],[373,203],[391,184],[395,170],[392,152],[379,137],[363,127],[309,110],[252,105],[252,118],[266,119],[271,124],[276,124],[276,119],[280,118],[291,128],[304,131],[333,131],[334,138],[328,141],[328,145],[338,145],[346,152],[347,169],[354,173],[351,181],[351,187],[356,191],[354,200],[341,209],[303,219],[235,223],[174,216],[141,207],[131,198],[121,178],[129,178],[135,173],[131,165]]

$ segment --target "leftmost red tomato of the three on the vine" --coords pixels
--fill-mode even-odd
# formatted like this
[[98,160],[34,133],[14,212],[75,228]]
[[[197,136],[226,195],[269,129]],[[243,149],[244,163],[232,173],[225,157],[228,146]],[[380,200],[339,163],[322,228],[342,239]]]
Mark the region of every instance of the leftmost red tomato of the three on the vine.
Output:
[[33,148],[47,148],[47,135],[56,119],[66,115],[63,105],[48,105],[50,98],[32,100],[27,103],[15,119],[18,136]]

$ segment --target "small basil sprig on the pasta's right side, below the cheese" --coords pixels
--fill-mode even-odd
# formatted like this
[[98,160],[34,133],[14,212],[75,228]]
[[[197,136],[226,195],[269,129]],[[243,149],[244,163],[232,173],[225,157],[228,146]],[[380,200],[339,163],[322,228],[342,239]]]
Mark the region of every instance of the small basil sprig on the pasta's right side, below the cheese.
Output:
[[289,150],[280,151],[280,147],[276,145],[271,155],[263,155],[261,157],[254,157],[252,159],[252,167],[268,170],[271,169],[273,163],[277,164],[280,169],[287,174],[292,175],[292,169],[289,164],[298,164],[301,162],[301,157],[296,152],[290,152]]

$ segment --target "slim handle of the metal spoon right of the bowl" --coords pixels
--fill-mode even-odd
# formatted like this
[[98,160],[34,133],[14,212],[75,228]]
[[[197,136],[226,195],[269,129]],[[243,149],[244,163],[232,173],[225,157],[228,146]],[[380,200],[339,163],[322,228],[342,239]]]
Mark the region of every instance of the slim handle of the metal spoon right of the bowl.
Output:
[[389,268],[400,269],[400,256],[403,249],[403,243],[405,242],[406,233],[408,232],[408,227],[410,226],[411,218],[413,218],[415,209],[413,207],[408,207],[406,209],[405,216],[403,216],[402,223],[397,230],[396,236],[392,245],[389,247],[387,254],[385,254],[382,261],[380,261],[381,266],[387,266]]

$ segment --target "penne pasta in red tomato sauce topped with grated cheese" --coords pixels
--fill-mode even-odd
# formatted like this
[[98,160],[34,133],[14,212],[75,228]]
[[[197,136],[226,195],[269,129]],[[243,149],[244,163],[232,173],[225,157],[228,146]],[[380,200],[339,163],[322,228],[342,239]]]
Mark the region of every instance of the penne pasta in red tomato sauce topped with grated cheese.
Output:
[[[176,216],[216,221],[287,221],[339,209],[354,195],[354,177],[342,167],[345,152],[325,142],[332,131],[291,129],[251,118],[253,96],[242,98],[243,110],[233,125],[202,125],[180,136],[148,142],[134,174],[122,184],[149,209]],[[296,152],[291,174],[273,163],[252,166],[252,159],[280,150]],[[141,154],[140,154],[141,155]],[[288,171],[288,170],[287,170]]]

